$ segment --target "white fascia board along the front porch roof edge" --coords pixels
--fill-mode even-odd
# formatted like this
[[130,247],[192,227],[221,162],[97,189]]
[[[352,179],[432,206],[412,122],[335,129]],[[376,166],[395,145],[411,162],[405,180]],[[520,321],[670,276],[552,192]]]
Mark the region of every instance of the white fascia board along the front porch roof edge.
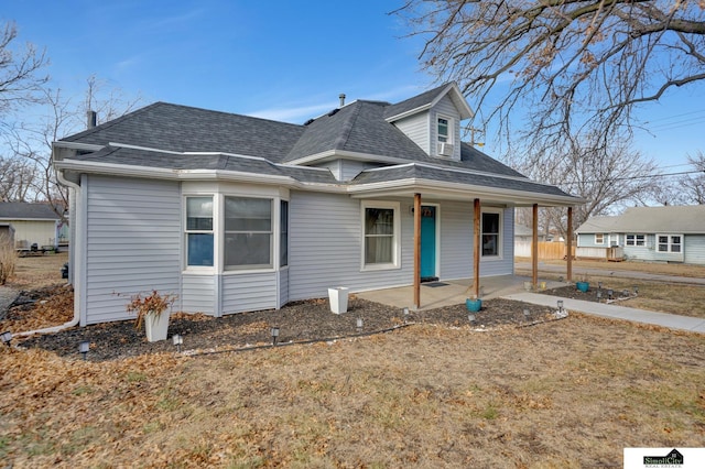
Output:
[[581,205],[582,199],[566,196],[553,196],[547,194],[540,194],[525,190],[505,189],[498,187],[478,186],[471,184],[460,183],[444,183],[429,179],[400,179],[392,182],[380,182],[364,184],[357,186],[350,186],[348,193],[355,198],[368,197],[372,194],[379,194],[381,192],[399,192],[406,190],[409,193],[447,193],[448,195],[462,196],[463,198],[492,198],[499,200],[506,200],[512,204],[520,205],[555,205],[555,206],[574,206]]

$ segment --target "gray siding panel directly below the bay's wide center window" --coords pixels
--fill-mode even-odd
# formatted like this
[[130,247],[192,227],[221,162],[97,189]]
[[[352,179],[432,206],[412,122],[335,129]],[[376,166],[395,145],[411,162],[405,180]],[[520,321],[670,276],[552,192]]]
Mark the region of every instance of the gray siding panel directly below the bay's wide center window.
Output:
[[276,272],[223,275],[223,314],[276,308]]

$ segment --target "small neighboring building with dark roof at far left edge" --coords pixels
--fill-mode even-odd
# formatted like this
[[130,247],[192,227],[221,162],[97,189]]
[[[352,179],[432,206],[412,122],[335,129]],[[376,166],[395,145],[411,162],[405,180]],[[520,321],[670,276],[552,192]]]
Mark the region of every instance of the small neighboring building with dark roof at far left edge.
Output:
[[0,223],[14,228],[17,249],[56,247],[56,227],[59,217],[48,204],[24,201],[0,203]]

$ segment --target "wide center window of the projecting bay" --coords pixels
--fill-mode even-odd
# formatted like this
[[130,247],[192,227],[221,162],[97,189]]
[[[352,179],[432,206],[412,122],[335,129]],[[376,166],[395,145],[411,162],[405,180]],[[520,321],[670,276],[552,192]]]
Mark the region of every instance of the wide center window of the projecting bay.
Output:
[[225,268],[272,266],[272,200],[225,197]]

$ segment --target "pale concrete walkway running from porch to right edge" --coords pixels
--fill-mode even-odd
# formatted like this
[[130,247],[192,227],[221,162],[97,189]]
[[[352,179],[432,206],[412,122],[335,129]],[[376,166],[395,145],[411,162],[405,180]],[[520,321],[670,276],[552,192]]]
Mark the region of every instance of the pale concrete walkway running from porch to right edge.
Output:
[[653,324],[670,329],[688,330],[705,334],[705,319],[690,316],[679,316],[666,313],[648,312],[627,306],[608,305],[605,303],[585,302],[582,299],[560,298],[557,296],[541,295],[539,293],[520,292],[505,295],[503,298],[525,302],[534,305],[556,307],[556,302],[563,299],[563,307],[568,312],[579,312],[612,319],[625,319],[634,323]]

